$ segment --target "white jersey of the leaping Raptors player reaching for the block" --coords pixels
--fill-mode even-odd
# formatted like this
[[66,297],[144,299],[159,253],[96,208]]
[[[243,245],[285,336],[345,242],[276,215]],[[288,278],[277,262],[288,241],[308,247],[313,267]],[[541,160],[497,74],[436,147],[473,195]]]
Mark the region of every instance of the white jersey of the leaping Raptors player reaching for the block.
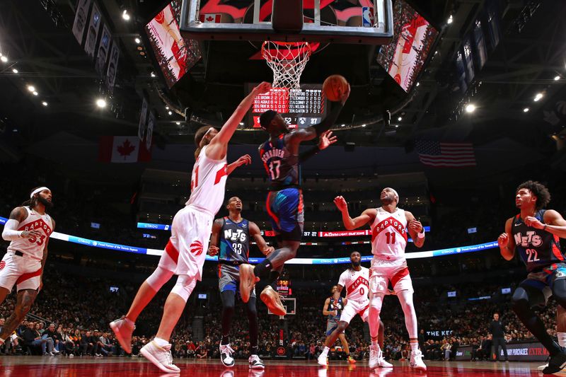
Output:
[[185,205],[192,204],[214,216],[224,202],[228,171],[226,156],[221,160],[211,160],[207,158],[206,151],[207,146],[204,146],[192,168],[190,198]]

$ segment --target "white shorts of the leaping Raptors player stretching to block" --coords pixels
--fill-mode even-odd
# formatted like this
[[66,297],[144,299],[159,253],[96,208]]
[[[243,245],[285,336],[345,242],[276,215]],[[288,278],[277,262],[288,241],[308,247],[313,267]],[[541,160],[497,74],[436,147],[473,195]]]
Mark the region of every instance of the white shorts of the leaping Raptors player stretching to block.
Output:
[[159,265],[176,275],[202,279],[202,266],[207,257],[214,214],[187,206],[175,214],[171,224],[171,238]]

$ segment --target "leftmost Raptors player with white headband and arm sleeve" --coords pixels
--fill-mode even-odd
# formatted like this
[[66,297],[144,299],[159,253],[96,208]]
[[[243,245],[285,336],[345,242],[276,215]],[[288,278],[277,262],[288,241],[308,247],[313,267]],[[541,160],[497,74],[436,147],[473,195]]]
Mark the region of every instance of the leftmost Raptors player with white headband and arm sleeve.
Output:
[[16,308],[0,333],[0,346],[30,311],[42,286],[43,267],[47,260],[47,243],[55,221],[47,214],[53,207],[51,190],[36,187],[30,199],[14,208],[4,225],[2,238],[10,241],[8,252],[0,262],[0,304],[16,285]]

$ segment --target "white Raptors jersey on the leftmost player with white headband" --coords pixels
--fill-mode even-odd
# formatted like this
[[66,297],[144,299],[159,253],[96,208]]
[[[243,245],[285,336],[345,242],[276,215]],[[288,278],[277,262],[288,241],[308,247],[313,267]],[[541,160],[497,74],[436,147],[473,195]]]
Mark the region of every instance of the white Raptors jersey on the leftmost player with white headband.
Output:
[[33,209],[30,209],[30,207],[23,208],[28,211],[28,217],[18,224],[18,231],[40,231],[43,234],[40,237],[18,238],[17,240],[13,240],[10,245],[8,245],[8,251],[12,253],[21,251],[21,253],[28,255],[28,257],[42,259],[45,242],[47,242],[47,238],[51,236],[51,232],[53,231],[51,216],[48,214],[40,215],[36,211],[33,211]]

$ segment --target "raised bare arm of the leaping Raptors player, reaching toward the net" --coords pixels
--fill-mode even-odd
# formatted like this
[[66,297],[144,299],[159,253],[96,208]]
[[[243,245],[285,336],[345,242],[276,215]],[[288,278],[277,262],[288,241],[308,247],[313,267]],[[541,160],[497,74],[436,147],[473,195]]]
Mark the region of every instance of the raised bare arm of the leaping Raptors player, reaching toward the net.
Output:
[[226,146],[228,146],[228,142],[232,138],[234,132],[236,132],[236,129],[243,120],[244,115],[246,115],[246,112],[250,110],[253,100],[258,94],[267,93],[270,89],[271,84],[264,81],[253,88],[250,94],[246,95],[246,98],[244,98],[236,110],[234,110],[231,117],[229,117],[226,123],[224,123],[224,126],[222,126],[218,134],[216,134],[210,141],[207,148],[208,158],[211,158],[212,160],[224,158],[226,155]]

